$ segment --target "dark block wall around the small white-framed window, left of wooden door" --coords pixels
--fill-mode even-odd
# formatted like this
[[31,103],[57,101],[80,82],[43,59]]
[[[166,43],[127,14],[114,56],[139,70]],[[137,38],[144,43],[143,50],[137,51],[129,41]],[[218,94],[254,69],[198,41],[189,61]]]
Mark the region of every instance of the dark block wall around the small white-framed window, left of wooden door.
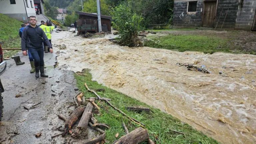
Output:
[[188,1],[175,0],[173,9],[173,26],[176,27],[201,27],[203,0],[197,1],[196,12],[187,12]]

